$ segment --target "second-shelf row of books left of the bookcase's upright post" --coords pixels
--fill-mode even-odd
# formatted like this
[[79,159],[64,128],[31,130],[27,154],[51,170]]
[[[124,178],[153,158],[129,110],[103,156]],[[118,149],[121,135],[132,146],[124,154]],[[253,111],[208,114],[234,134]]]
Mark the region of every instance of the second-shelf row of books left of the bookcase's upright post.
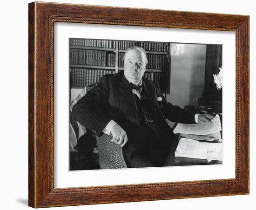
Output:
[[70,64],[115,67],[115,53],[101,50],[70,49]]

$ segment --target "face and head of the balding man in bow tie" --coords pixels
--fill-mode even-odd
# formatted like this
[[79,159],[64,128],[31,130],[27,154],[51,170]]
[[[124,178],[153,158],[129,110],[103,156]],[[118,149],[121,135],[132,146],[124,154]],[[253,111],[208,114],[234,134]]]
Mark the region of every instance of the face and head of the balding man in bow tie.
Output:
[[[124,75],[128,80],[138,83],[145,70],[145,54],[138,49],[128,50],[124,59]],[[136,84],[135,84],[136,85]]]

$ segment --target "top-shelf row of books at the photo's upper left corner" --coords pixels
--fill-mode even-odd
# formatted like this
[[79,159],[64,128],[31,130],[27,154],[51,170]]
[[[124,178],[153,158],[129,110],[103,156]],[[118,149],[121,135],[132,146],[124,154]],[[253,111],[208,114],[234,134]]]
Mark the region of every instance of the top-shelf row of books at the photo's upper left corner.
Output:
[[101,48],[115,48],[115,41],[102,39],[70,39],[71,46],[89,46]]

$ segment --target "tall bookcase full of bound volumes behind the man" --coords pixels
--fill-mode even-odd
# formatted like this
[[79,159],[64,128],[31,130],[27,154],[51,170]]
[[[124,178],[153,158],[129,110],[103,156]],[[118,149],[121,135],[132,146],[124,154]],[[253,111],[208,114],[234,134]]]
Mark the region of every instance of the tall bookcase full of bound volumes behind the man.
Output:
[[124,53],[131,46],[146,51],[148,65],[144,77],[157,83],[166,94],[170,85],[170,43],[167,42],[70,38],[70,88],[94,85],[104,74],[123,71]]

